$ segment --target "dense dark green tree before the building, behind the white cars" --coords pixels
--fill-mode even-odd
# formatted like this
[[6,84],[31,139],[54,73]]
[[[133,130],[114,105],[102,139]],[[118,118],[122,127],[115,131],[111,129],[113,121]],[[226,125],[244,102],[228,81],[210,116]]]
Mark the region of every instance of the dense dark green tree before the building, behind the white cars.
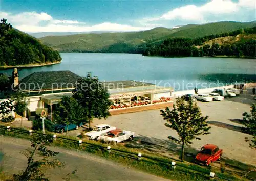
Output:
[[89,127],[93,118],[106,119],[110,115],[109,109],[112,105],[109,100],[110,94],[98,77],[92,77],[90,73],[87,77],[78,80],[77,87],[73,90],[73,97],[84,109],[84,118],[89,121]]

